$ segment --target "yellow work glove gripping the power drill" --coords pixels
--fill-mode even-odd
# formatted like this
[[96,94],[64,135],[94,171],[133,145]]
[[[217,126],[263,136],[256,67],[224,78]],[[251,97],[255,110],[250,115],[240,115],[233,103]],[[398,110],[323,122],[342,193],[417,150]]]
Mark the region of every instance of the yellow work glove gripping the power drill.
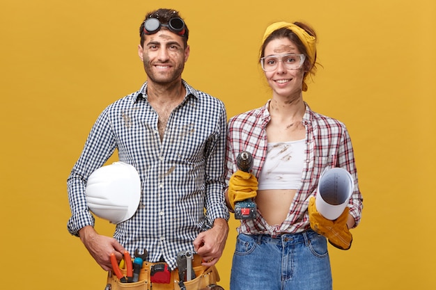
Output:
[[258,180],[249,172],[238,170],[228,181],[228,201],[232,209],[235,209],[235,202],[254,198],[258,190]]

